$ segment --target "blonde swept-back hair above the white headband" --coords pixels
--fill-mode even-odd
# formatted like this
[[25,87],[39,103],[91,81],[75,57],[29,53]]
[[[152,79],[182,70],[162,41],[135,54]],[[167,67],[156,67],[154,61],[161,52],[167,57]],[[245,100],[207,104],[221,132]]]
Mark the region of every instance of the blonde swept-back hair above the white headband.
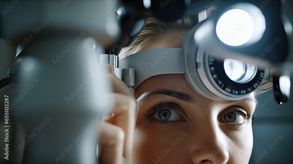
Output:
[[[217,10],[216,6],[207,9],[207,17]],[[162,23],[159,19],[151,17],[146,19],[144,29],[137,35],[135,40],[127,47],[123,47],[119,58],[148,50],[149,47],[158,44],[158,39],[173,32],[186,33],[198,22],[197,16],[179,18],[174,23]]]

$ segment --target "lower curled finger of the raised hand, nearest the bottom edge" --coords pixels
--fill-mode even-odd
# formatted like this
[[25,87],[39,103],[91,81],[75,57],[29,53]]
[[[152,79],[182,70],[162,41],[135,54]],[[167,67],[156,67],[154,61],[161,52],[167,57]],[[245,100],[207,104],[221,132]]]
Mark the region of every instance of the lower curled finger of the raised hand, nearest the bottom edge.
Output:
[[101,125],[99,146],[100,164],[120,164],[123,161],[123,150],[119,145],[123,144],[125,134],[120,127],[104,122]]

